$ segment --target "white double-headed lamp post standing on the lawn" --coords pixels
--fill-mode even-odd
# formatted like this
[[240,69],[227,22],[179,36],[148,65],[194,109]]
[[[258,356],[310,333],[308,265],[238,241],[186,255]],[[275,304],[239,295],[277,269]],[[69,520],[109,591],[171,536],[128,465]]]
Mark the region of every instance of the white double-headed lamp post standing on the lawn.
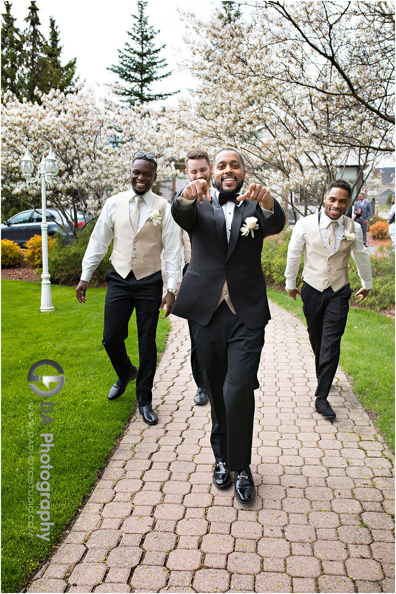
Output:
[[50,149],[48,155],[41,160],[40,169],[37,173],[37,177],[32,179],[32,173],[34,165],[32,157],[30,157],[29,150],[26,149],[26,153],[21,160],[21,172],[28,184],[33,184],[39,181],[41,178],[41,209],[42,209],[42,222],[41,222],[41,236],[42,236],[42,251],[43,251],[43,273],[41,275],[41,311],[54,311],[54,305],[52,305],[51,295],[51,281],[50,274],[48,272],[48,240],[47,240],[47,216],[46,216],[46,182],[51,182],[56,175],[58,175],[59,167],[56,163],[56,157],[52,149]]

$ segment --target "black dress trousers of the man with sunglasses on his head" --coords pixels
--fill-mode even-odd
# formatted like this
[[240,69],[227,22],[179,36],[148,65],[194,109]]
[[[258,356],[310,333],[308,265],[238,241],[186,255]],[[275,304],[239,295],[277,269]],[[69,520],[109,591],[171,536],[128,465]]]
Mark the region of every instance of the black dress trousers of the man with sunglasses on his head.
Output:
[[136,399],[139,406],[152,403],[152,387],[157,364],[156,329],[162,300],[161,271],[137,280],[133,271],[123,279],[114,268],[106,272],[108,289],[105,300],[105,321],[102,345],[120,380],[132,374],[133,367],[125,349],[128,323],[136,310],[139,371],[136,378]]

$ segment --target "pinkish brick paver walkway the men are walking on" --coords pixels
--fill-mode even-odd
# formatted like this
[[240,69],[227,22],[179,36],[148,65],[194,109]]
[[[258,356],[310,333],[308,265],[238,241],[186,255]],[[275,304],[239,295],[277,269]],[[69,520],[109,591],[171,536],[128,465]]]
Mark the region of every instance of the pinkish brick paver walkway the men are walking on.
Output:
[[158,425],[133,416],[29,592],[395,591],[392,455],[340,369],[330,398],[337,420],[315,413],[306,328],[271,311],[254,502],[212,485],[209,404],[194,405],[187,322],[173,317],[153,393]]

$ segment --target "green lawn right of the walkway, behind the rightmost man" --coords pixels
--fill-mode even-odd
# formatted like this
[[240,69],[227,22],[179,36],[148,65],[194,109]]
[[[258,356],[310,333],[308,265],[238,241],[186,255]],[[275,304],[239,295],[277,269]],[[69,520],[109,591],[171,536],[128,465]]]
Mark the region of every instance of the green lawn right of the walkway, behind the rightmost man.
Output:
[[[294,301],[279,289],[268,289],[268,297],[306,325],[300,297]],[[367,309],[350,308],[340,364],[351,377],[362,405],[375,413],[375,423],[394,451],[395,320]]]

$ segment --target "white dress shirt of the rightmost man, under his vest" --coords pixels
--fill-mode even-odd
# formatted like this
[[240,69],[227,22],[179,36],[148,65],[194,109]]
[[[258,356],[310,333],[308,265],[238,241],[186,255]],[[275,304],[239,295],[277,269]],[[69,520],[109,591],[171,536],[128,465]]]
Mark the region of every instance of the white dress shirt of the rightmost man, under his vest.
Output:
[[[320,238],[323,242],[323,247],[326,247],[329,233],[328,226],[330,225],[332,220],[333,219],[329,219],[329,217],[324,212],[320,214],[319,233]],[[336,220],[338,223],[338,227],[334,229],[334,252],[336,252],[337,249],[340,247],[340,242],[345,232],[344,215],[341,214],[341,216],[338,217],[338,219]],[[351,254],[354,261],[356,262],[357,272],[359,273],[360,280],[362,280],[363,289],[372,289],[373,280],[371,274],[370,257],[369,252],[367,252],[367,249],[364,247],[363,244],[362,227],[359,225],[359,223],[355,222],[353,222],[353,225],[356,239],[352,244]],[[300,267],[301,256],[304,252],[306,236],[306,219],[299,219],[296,225],[294,225],[293,233],[291,233],[289,247],[287,249],[287,265],[285,270],[285,277],[286,288],[290,290],[296,289],[296,277],[298,274],[298,268]],[[328,286],[330,286],[330,283],[328,283]]]

